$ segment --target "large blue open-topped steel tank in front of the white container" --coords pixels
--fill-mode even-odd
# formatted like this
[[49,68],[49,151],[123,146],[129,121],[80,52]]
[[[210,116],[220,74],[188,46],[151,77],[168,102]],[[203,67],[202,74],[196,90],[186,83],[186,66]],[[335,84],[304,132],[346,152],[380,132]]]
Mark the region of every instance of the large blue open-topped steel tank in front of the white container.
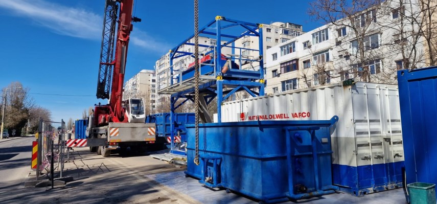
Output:
[[195,128],[187,125],[186,174],[267,203],[334,193],[330,130],[337,120],[199,124],[199,165]]

